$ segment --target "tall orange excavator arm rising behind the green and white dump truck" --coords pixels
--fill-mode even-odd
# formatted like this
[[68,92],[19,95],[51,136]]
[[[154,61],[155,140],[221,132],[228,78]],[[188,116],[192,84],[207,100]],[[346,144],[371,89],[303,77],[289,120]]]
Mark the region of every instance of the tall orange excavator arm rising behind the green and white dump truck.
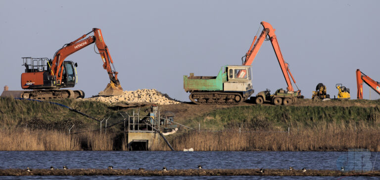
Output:
[[[259,38],[257,38],[257,35],[259,34],[259,31],[261,29],[261,26],[263,27],[263,30],[262,30]],[[263,44],[264,40],[270,40],[272,43],[273,49],[275,50],[277,60],[279,61],[281,70],[284,74],[285,81],[287,84],[287,88],[286,88],[287,91],[294,91],[294,88],[293,88],[291,81],[290,81],[290,77],[291,77],[295,86],[297,87],[297,91],[295,91],[295,93],[297,93],[297,97],[302,98],[303,96],[301,96],[301,90],[298,89],[298,86],[294,80],[294,77],[289,70],[289,65],[287,63],[285,63],[285,60],[284,60],[284,57],[281,53],[279,42],[277,40],[275,31],[276,31],[276,29],[273,29],[271,24],[264,22],[264,21],[261,22],[259,30],[257,31],[257,34],[254,37],[251,46],[249,47],[245,56],[243,56],[241,58],[242,65],[243,66],[250,66],[252,64],[253,60],[255,59],[257,53],[259,52],[259,49],[260,49],[261,45]],[[245,59],[243,59],[243,58],[245,58]],[[239,75],[243,76],[244,72],[242,72]],[[289,75],[290,75],[290,77],[289,77]]]

